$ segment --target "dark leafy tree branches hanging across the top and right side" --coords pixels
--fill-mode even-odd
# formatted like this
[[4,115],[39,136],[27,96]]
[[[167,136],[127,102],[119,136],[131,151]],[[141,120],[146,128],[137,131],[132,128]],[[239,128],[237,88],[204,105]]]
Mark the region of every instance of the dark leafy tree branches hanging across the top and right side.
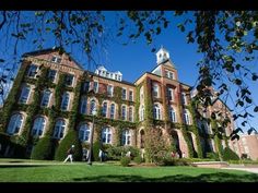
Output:
[[[28,17],[28,19],[27,19]],[[209,87],[218,88],[225,104],[232,100],[235,104],[234,120],[242,120],[242,126],[248,124],[253,112],[258,112],[258,106],[251,97],[246,84],[247,80],[257,81],[258,74],[250,70],[249,63],[257,57],[258,39],[258,12],[257,11],[127,11],[118,13],[117,37],[128,37],[125,45],[144,38],[152,46],[155,36],[165,31],[174,17],[184,20],[177,27],[186,33],[188,44],[197,44],[197,51],[203,55],[203,59],[197,63],[199,77],[194,86],[198,91],[198,99],[203,106],[211,104]],[[10,27],[13,26],[13,27]],[[1,11],[0,33],[4,34],[3,40],[9,45],[12,39],[13,55],[17,53],[17,45],[24,41],[36,45],[38,49],[44,47],[49,36],[56,40],[56,45],[62,48],[78,46],[89,59],[89,65],[94,62],[96,48],[105,48],[110,36],[108,24],[105,23],[105,13],[101,11]],[[8,47],[8,46],[5,46]],[[152,51],[155,47],[152,46]],[[244,57],[241,57],[244,55]],[[15,60],[16,61],[16,60]],[[5,82],[13,79],[10,69],[16,69],[16,62],[11,64],[4,58],[0,58],[2,73],[0,79],[0,95],[4,93]],[[228,88],[232,84],[236,89],[236,100]],[[249,125],[248,132],[255,130]],[[237,130],[241,131],[241,130]],[[232,134],[233,140],[237,132]]]

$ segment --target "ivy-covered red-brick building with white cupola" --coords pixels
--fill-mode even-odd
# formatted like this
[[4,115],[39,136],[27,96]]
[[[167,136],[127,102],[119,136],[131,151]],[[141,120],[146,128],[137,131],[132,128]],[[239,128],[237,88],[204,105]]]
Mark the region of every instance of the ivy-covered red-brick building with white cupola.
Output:
[[[40,110],[32,114],[28,109],[33,102],[35,104],[35,91],[39,89],[36,87],[37,80],[43,74],[43,68],[48,69],[45,74],[47,84],[40,87],[38,101]],[[25,53],[20,72],[16,83],[14,82],[19,88],[16,92],[14,88],[10,92],[10,95],[16,96],[15,101],[12,102],[11,110],[3,118],[1,125],[2,132],[8,135],[40,138],[51,132],[54,138],[61,141],[68,130],[74,129],[80,141],[89,143],[92,114],[96,110],[96,124],[99,123],[98,135],[103,144],[131,145],[144,149],[145,132],[151,122],[151,126],[159,129],[167,143],[176,146],[180,156],[185,153],[186,157],[189,157],[190,148],[197,153],[198,141],[203,153],[218,152],[211,126],[203,120],[192,118],[189,110],[191,87],[178,81],[175,64],[164,48],[156,52],[154,69],[142,74],[134,83],[124,81],[121,72],[109,72],[104,67],[97,68],[95,73],[85,71],[66,52],[59,55],[57,49]],[[61,84],[61,76],[63,76],[62,92],[57,95],[61,89],[58,86]],[[77,94],[79,83],[80,92]],[[77,102],[79,106],[73,109]],[[59,113],[52,119],[49,117],[49,111],[57,107]],[[223,108],[231,117],[228,108],[219,98],[214,98],[212,108]],[[69,128],[71,122],[69,114],[72,110],[79,112],[79,116],[74,126]],[[209,118],[211,110],[201,113]],[[27,119],[32,121],[31,124],[27,123],[30,126],[25,132]],[[194,130],[194,124],[199,125],[197,131]],[[232,121],[224,131],[228,136],[233,130]],[[94,140],[97,138],[96,135],[97,133],[94,133]],[[239,154],[237,142],[222,140],[222,145],[224,147],[228,145]],[[33,144],[28,143],[28,154],[32,148]],[[7,149],[5,155],[11,152]]]

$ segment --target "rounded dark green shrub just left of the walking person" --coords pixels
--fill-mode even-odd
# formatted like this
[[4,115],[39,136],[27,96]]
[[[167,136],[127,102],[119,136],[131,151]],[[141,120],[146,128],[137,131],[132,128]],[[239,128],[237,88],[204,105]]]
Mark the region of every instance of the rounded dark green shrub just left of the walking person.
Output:
[[32,159],[52,159],[52,141],[50,136],[45,136],[37,142],[32,152]]

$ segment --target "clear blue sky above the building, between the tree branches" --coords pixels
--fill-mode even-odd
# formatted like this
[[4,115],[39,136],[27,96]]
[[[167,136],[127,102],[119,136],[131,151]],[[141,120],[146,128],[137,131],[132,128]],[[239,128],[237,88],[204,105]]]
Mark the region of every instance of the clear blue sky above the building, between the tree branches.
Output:
[[[190,15],[190,14],[188,14]],[[169,25],[168,28],[163,31],[159,36],[155,36],[153,39],[153,45],[159,49],[161,45],[164,46],[169,51],[171,59],[175,63],[176,69],[178,70],[179,81],[188,85],[194,85],[198,77],[198,68],[196,63],[201,60],[202,56],[197,53],[197,46],[195,44],[186,43],[186,33],[179,32],[176,25],[180,22],[181,19],[175,19]],[[115,36],[115,24],[116,17],[115,12],[106,12],[106,22],[108,23],[109,33]],[[2,36],[3,34],[0,33]],[[106,67],[109,71],[120,71],[122,73],[122,79],[125,81],[134,82],[140,75],[146,71],[151,71],[156,65],[155,53],[151,52],[152,46],[148,46],[143,38],[138,39],[136,43],[130,43],[128,46],[122,46],[125,39],[112,39],[108,43],[108,46],[105,50],[98,50],[98,56],[95,58],[96,62]],[[9,55],[8,51],[2,49],[3,40],[0,39],[0,51],[2,53]],[[10,46],[13,45],[12,41],[9,43]],[[55,43],[51,37],[45,44],[45,48],[52,47]],[[33,51],[36,49],[35,46],[30,44],[19,45],[19,57],[27,51]],[[87,67],[87,60],[81,55],[80,51],[73,49],[72,56],[79,63]],[[10,62],[13,62],[10,60]],[[12,63],[10,63],[12,64]],[[254,72],[258,72],[257,61],[254,62],[251,67]],[[91,71],[94,71],[93,65],[90,67]],[[1,70],[0,70],[1,74]],[[248,82],[250,91],[253,92],[253,98],[258,105],[258,86],[257,82]],[[233,94],[234,95],[234,94]],[[228,104],[231,107],[232,104]],[[257,114],[251,121],[254,126],[258,125]]]

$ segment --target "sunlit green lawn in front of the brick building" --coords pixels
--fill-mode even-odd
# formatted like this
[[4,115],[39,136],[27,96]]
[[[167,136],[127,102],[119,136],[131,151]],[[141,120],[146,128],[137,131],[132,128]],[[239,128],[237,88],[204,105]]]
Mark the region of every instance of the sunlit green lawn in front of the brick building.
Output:
[[[17,164],[15,164],[16,161]],[[9,162],[9,165],[3,165]],[[196,167],[121,167],[0,159],[0,182],[258,182],[258,174]]]

